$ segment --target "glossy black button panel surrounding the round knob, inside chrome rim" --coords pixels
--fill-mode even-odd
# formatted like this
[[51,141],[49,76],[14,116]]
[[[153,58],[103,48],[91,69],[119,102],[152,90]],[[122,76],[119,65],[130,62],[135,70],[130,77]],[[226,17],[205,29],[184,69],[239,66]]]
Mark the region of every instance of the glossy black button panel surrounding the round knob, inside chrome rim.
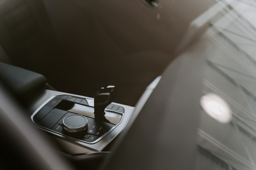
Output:
[[[114,124],[85,116],[88,120],[88,127],[85,130],[76,133],[67,132],[63,129],[62,121],[66,116],[76,114],[68,111],[74,104],[88,106],[87,100],[83,98],[70,95],[56,96],[33,116],[33,121],[42,127],[85,142],[94,142],[100,137],[105,136],[115,126]],[[120,109],[120,106],[114,104],[110,104],[107,109],[115,109],[116,111],[119,109],[118,112],[124,111],[124,109]]]

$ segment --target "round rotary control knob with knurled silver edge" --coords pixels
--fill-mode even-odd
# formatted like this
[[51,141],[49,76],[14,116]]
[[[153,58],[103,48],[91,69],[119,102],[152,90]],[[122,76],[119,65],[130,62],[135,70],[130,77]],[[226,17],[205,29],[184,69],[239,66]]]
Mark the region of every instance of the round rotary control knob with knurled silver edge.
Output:
[[63,119],[62,126],[68,132],[81,132],[88,127],[88,120],[82,115],[72,114]]

